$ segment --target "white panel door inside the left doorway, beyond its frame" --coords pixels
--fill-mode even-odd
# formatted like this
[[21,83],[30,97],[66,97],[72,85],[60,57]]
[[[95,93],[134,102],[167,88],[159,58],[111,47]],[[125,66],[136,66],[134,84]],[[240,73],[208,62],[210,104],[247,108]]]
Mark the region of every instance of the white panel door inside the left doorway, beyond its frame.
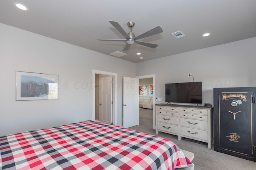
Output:
[[100,78],[100,121],[112,123],[112,76]]

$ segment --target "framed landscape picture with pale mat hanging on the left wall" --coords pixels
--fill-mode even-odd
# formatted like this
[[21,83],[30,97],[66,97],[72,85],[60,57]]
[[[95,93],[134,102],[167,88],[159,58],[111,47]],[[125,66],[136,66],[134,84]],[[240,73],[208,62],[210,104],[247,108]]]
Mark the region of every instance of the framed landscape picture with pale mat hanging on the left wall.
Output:
[[16,101],[57,99],[58,75],[16,71]]

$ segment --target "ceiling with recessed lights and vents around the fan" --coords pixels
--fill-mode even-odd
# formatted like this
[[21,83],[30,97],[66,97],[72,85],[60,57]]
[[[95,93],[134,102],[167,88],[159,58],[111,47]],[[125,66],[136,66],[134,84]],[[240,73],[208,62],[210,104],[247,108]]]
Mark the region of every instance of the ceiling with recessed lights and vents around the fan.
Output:
[[[124,39],[110,20],[127,33],[127,22],[135,22],[135,36],[159,25],[163,33],[140,39],[158,47],[122,51],[126,42],[98,41]],[[138,63],[256,37],[256,0],[0,0],[0,22],[106,55],[120,51],[127,54],[120,59]],[[176,39],[176,31],[186,36]]]

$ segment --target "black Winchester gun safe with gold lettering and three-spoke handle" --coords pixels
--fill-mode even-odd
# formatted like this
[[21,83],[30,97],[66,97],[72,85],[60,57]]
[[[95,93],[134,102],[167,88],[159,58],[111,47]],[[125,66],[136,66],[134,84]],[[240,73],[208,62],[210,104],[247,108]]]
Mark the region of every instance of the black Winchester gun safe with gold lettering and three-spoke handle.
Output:
[[256,87],[214,88],[214,150],[256,162]]

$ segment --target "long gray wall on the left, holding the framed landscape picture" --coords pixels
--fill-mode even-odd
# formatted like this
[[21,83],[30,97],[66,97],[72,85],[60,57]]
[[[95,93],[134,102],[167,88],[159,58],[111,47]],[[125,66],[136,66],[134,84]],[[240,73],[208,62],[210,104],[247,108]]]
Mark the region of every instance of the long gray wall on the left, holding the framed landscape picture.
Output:
[[[122,125],[122,77],[135,77],[136,64],[2,23],[0,30],[0,136],[92,119],[92,70],[118,74]],[[16,71],[58,74],[58,100],[16,101]]]

